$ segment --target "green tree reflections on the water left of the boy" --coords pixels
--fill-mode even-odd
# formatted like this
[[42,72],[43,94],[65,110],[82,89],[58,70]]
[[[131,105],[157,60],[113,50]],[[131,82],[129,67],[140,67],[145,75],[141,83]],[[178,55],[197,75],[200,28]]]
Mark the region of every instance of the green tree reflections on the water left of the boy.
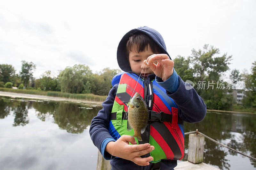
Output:
[[[36,109],[36,116],[41,120],[49,117],[54,118],[54,123],[58,124],[60,129],[66,129],[69,133],[83,133],[87,126],[90,126],[92,118],[98,114],[99,107],[85,106],[81,104],[42,101],[42,100],[14,100],[2,98],[0,100],[0,118],[4,119],[14,111],[13,126],[25,126],[29,123],[28,109]],[[37,102],[35,102],[37,101]]]

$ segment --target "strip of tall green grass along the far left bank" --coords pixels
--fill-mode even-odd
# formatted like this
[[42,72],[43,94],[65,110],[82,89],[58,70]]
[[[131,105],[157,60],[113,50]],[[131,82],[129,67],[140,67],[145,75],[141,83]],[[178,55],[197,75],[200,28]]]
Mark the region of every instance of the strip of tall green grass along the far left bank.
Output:
[[53,96],[53,97],[63,97],[68,99],[79,99],[79,100],[93,100],[93,101],[105,101],[107,96],[99,96],[95,94],[73,94],[73,93],[64,93],[64,92],[55,92],[55,91],[43,91],[43,90],[27,90],[27,89],[11,89],[11,88],[2,88],[2,92],[15,92],[15,93],[25,93],[25,94],[36,94],[44,96]]

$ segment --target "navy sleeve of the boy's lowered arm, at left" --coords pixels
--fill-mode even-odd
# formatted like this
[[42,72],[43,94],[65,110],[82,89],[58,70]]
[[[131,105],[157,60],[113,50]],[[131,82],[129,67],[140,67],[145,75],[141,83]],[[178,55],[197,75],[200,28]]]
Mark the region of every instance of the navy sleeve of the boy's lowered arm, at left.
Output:
[[102,109],[99,111],[98,115],[92,119],[90,126],[90,136],[93,144],[100,150],[104,159],[110,159],[111,155],[105,152],[106,145],[110,141],[115,141],[115,139],[110,135],[108,131],[109,117],[116,97],[117,85],[114,85],[109,91],[106,101],[102,105]]

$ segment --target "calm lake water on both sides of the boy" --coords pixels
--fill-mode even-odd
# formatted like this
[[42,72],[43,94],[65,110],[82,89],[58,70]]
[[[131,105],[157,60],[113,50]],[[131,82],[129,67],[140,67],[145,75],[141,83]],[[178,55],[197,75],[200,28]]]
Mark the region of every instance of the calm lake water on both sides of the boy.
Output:
[[[89,135],[101,107],[0,96],[0,169],[96,169],[98,149]],[[205,135],[256,157],[256,115],[207,112],[185,132]],[[187,148],[187,149],[186,149]],[[188,159],[188,135],[185,155]],[[256,161],[205,138],[204,162],[220,169],[256,169]]]

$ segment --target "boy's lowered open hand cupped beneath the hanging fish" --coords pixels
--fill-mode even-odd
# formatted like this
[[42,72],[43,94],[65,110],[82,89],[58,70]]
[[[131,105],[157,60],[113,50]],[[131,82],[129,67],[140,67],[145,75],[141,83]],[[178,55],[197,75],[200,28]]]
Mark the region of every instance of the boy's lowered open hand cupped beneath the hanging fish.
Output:
[[[133,145],[129,144],[129,142]],[[153,157],[149,156],[147,158],[141,158],[140,156],[145,155],[154,149],[155,147],[150,146],[150,144],[137,144],[134,137],[123,135],[115,142],[108,142],[105,150],[113,156],[131,160],[140,166],[146,166],[149,165],[149,161],[153,160]]]

